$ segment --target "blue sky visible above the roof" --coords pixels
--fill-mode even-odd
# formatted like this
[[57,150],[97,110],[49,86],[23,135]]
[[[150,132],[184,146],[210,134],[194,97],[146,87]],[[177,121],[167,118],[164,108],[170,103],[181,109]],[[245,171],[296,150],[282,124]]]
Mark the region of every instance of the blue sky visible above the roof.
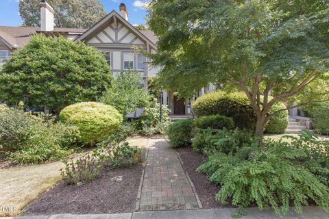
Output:
[[[125,3],[128,10],[129,22],[145,24],[146,9],[143,8],[144,1],[136,0],[99,0],[106,12],[119,11],[119,4]],[[0,26],[20,26],[23,23],[19,16],[19,0],[0,0]]]

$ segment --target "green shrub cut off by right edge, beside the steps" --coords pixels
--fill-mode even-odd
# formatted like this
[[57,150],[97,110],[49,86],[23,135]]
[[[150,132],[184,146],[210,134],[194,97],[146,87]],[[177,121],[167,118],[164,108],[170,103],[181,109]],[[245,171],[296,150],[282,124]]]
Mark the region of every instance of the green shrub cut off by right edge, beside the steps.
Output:
[[313,127],[317,133],[329,135],[329,103],[317,104],[309,110],[314,118]]

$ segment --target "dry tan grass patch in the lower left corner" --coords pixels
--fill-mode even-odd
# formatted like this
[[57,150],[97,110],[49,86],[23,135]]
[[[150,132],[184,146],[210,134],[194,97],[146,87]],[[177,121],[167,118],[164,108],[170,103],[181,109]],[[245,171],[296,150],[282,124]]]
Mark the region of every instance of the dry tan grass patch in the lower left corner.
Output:
[[26,205],[61,181],[59,170],[63,167],[62,162],[55,162],[0,169],[0,206],[17,209],[10,213],[0,211],[0,216],[21,214]]

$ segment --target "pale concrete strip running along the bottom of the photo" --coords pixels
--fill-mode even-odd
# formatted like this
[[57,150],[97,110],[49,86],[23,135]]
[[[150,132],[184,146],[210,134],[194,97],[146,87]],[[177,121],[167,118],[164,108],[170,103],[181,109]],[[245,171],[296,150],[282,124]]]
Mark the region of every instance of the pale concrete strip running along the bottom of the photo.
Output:
[[[236,208],[222,209],[191,209],[173,211],[138,211],[125,214],[56,214],[52,216],[25,216],[14,219],[232,219],[232,214]],[[296,214],[293,209],[289,209],[286,216],[276,215],[272,208],[260,211],[256,207],[247,207],[247,216],[241,219],[327,219],[329,214],[319,207],[303,207],[303,214]],[[10,219],[10,218],[3,218]]]

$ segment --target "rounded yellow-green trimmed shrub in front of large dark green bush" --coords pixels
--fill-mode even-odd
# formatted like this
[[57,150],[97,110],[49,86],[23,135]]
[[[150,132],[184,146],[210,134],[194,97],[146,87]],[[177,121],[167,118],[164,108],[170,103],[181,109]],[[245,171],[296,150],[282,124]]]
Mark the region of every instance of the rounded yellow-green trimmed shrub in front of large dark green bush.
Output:
[[64,107],[60,120],[80,130],[80,142],[90,146],[119,129],[123,116],[104,103],[83,102]]

